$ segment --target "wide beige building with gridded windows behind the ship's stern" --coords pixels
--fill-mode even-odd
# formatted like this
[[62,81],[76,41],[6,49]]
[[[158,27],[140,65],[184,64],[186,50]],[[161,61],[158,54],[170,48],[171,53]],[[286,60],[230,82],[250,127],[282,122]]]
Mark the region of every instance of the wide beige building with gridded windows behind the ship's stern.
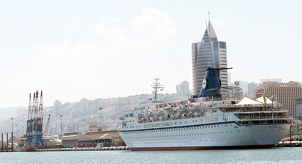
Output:
[[302,97],[300,83],[290,81],[289,83],[277,83],[277,81],[266,81],[260,84],[254,94],[254,98],[261,96],[272,97],[272,100],[281,103],[289,115],[297,118],[296,98]]

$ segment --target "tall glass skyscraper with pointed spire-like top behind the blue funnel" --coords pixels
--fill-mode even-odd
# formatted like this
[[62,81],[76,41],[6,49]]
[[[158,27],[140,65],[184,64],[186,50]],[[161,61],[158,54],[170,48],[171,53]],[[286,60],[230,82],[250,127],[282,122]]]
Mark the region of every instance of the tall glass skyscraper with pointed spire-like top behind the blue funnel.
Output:
[[[207,68],[227,68],[226,43],[218,41],[210,21],[202,41],[192,43],[191,57],[193,93],[199,94]],[[228,72],[226,69],[220,71],[220,79],[221,87],[228,86]]]

